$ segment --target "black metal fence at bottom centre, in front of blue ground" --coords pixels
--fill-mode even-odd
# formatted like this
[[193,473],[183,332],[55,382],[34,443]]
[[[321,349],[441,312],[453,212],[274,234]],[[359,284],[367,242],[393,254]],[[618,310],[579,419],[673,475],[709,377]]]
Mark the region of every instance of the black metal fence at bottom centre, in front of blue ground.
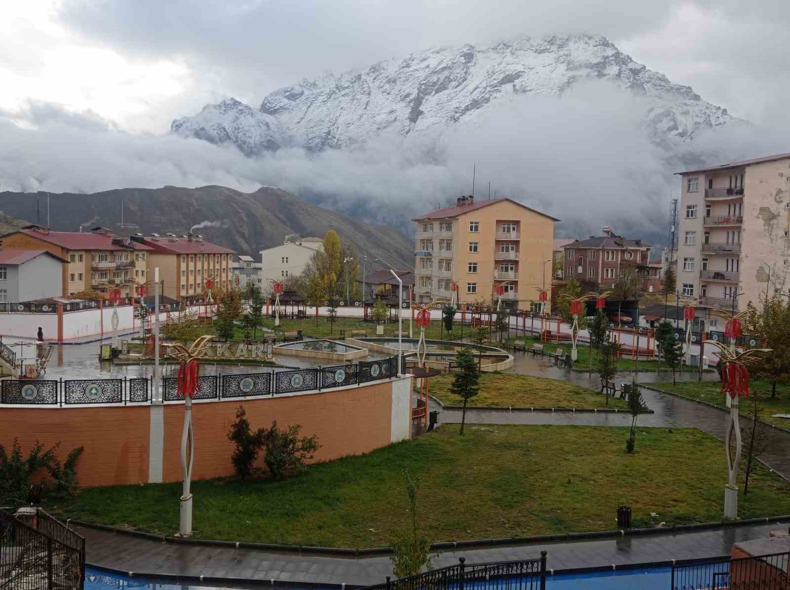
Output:
[[416,576],[402,577],[365,590],[545,590],[546,551],[540,559],[517,562],[479,563],[467,566],[465,558],[457,566],[431,569]]

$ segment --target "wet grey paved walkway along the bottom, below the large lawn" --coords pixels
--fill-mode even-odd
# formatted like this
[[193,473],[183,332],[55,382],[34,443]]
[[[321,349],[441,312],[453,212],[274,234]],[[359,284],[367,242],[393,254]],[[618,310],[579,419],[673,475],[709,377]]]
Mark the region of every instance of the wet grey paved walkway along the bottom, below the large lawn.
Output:
[[[460,557],[465,557],[467,563],[539,558],[541,550],[548,551],[548,568],[556,573],[566,569],[712,558],[728,555],[736,541],[766,537],[771,530],[786,526],[774,523],[700,532],[445,551],[434,559],[434,567],[451,566]],[[77,530],[88,540],[88,564],[127,574],[132,572],[137,576],[219,577],[239,584],[274,580],[292,584],[369,585],[381,583],[392,574],[386,555],[359,559],[318,557],[233,547],[179,545],[89,528]]]

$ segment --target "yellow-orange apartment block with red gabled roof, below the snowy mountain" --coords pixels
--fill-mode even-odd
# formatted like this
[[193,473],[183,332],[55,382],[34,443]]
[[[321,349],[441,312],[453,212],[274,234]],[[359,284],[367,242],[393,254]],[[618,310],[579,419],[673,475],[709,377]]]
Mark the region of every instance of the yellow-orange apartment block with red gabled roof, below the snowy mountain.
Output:
[[[559,219],[510,199],[460,197],[412,219],[416,223],[416,301],[450,301],[507,308],[539,307],[536,287],[550,289],[554,224]],[[548,301],[547,304],[551,304]]]

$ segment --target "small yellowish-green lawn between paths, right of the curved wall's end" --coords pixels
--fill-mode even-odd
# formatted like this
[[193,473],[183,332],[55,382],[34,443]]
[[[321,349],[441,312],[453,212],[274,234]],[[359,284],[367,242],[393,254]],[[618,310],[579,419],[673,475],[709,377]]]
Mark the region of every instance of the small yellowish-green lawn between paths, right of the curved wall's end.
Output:
[[[463,405],[464,400],[450,392],[454,375],[432,377],[430,393],[444,405]],[[532,375],[481,373],[480,393],[468,401],[468,407],[495,408],[626,408],[626,402],[609,398],[586,387]]]

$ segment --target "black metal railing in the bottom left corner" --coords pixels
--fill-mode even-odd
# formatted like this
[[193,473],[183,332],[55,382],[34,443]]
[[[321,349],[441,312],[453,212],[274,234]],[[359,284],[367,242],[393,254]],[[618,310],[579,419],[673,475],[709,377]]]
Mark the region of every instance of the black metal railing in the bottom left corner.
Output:
[[24,519],[0,510],[2,588],[85,587],[85,539],[43,510]]

